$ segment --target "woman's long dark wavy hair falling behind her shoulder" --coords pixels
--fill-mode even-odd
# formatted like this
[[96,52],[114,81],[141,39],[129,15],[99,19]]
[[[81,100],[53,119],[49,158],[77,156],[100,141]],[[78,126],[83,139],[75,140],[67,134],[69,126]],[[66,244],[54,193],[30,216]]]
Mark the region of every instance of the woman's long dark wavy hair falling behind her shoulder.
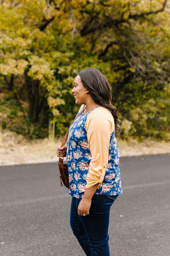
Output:
[[87,68],[79,72],[82,84],[91,94],[91,98],[102,107],[111,111],[115,122],[115,131],[119,133],[117,109],[112,105],[111,85],[103,73],[96,68]]

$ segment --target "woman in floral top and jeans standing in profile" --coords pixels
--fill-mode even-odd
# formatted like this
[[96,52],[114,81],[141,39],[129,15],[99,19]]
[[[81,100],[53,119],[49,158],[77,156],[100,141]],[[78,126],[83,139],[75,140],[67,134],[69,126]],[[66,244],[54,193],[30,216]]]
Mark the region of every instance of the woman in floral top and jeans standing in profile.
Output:
[[95,68],[79,72],[72,93],[84,111],[69,129],[67,147],[57,147],[58,157],[67,151],[70,224],[87,256],[109,256],[109,212],[122,193],[117,110],[108,80]]

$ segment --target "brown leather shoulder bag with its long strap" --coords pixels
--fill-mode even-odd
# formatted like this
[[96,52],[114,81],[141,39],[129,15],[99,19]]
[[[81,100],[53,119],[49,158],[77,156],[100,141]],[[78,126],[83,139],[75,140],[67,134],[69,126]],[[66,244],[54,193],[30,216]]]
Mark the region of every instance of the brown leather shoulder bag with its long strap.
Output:
[[[86,107],[85,107],[86,108]],[[85,108],[83,108],[82,109],[82,111],[80,111],[80,113],[78,114],[78,116],[85,110]],[[76,116],[76,118],[74,119],[74,121],[77,119],[77,117],[78,116]],[[74,122],[73,121],[73,122]],[[73,123],[72,122],[72,123]],[[72,125],[72,123],[71,123],[71,125]],[[70,126],[71,126],[70,125]],[[70,127],[68,128],[68,130],[70,129]],[[68,135],[68,130],[67,130],[67,132],[66,132],[66,134],[65,134],[65,137],[64,137],[64,139],[63,139],[63,141],[62,141],[62,145],[61,145],[61,147],[63,147],[64,145],[65,145],[65,141],[66,141],[66,139],[67,139],[67,135]],[[64,186],[66,186],[68,189],[69,189],[69,180],[68,180],[68,166],[67,166],[67,164],[66,163],[63,163],[63,160],[64,160],[64,157],[63,158],[61,158],[61,157],[59,157],[59,163],[58,163],[58,166],[59,166],[59,172],[60,172],[60,182],[61,182],[61,186],[63,186],[62,185],[62,182],[63,182],[63,184],[64,184]]]

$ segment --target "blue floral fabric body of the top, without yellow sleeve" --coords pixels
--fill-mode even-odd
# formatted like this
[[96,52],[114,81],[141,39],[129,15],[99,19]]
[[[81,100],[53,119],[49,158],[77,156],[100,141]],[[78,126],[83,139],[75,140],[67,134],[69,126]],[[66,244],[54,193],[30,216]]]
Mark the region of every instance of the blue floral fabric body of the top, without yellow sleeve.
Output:
[[[68,132],[67,165],[69,173],[69,194],[76,198],[82,198],[84,194],[86,176],[92,159],[91,152],[88,148],[86,131],[86,119],[89,113],[84,114],[82,112],[73,122]],[[108,166],[105,177],[95,194],[119,195],[121,193],[119,150],[116,143],[115,131],[113,131],[110,139]]]

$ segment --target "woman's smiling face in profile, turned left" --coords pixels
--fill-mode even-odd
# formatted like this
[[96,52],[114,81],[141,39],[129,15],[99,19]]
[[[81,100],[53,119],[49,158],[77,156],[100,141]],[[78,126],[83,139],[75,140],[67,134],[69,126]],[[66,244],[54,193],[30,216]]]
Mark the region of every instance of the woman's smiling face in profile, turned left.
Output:
[[[74,80],[74,87],[71,92],[74,93],[74,99],[76,100],[75,103],[77,105],[84,104],[84,102],[82,102],[82,100],[86,102],[86,101],[88,101],[88,99],[90,97],[89,93],[88,93],[89,91],[82,84],[82,81],[81,81],[81,78],[79,75]],[[84,94],[82,95],[82,93],[84,93]],[[82,100],[81,100],[81,95],[82,95]]]

